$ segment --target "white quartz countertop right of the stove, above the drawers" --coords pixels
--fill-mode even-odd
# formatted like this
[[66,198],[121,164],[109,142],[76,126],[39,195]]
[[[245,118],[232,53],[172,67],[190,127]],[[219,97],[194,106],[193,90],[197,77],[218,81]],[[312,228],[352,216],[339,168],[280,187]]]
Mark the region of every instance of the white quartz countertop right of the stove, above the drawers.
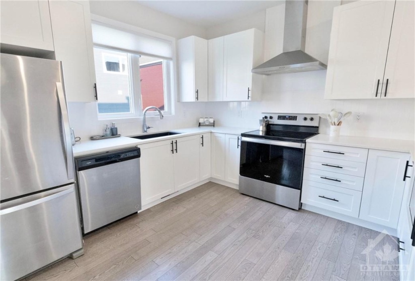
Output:
[[415,159],[415,142],[405,139],[348,135],[329,136],[328,134],[317,134],[313,137],[308,138],[307,143],[404,152],[410,153],[412,159]]

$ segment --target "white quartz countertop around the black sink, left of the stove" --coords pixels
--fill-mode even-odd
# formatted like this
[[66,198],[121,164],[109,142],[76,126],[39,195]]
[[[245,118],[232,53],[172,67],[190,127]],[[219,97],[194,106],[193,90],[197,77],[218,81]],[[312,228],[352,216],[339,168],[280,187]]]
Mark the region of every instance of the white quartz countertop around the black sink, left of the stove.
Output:
[[[128,147],[134,147],[142,144],[165,141],[166,139],[172,139],[182,136],[207,133],[207,132],[218,132],[228,134],[241,134],[242,132],[252,131],[255,128],[236,128],[236,127],[191,127],[191,128],[180,128],[172,129],[170,131],[181,132],[181,134],[162,136],[157,138],[149,139],[136,139],[128,136],[120,136],[107,139],[99,139],[97,141],[91,141],[90,139],[77,142],[72,147],[73,157],[85,156],[94,153],[106,152],[111,150],[123,149]],[[157,133],[157,132],[148,132]]]

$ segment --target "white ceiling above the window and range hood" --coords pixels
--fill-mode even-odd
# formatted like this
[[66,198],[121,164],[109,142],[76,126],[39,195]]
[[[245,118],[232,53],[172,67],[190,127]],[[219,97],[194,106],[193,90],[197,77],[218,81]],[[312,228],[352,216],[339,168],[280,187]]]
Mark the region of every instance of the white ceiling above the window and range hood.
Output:
[[140,1],[138,3],[188,23],[209,28],[283,3],[277,1]]

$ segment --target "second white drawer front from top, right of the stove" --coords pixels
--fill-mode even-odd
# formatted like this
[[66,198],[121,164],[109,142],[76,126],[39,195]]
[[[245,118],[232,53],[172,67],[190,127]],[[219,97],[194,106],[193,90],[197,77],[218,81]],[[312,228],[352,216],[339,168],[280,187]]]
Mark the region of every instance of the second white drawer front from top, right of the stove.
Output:
[[364,177],[366,163],[306,155],[304,167],[356,177]]

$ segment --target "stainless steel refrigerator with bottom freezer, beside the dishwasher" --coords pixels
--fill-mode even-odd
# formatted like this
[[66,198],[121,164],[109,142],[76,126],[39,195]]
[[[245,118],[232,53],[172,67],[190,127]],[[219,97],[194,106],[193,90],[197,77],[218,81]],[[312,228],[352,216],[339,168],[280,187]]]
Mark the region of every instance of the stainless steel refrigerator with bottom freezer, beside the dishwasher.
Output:
[[1,54],[1,280],[81,252],[61,63]]

